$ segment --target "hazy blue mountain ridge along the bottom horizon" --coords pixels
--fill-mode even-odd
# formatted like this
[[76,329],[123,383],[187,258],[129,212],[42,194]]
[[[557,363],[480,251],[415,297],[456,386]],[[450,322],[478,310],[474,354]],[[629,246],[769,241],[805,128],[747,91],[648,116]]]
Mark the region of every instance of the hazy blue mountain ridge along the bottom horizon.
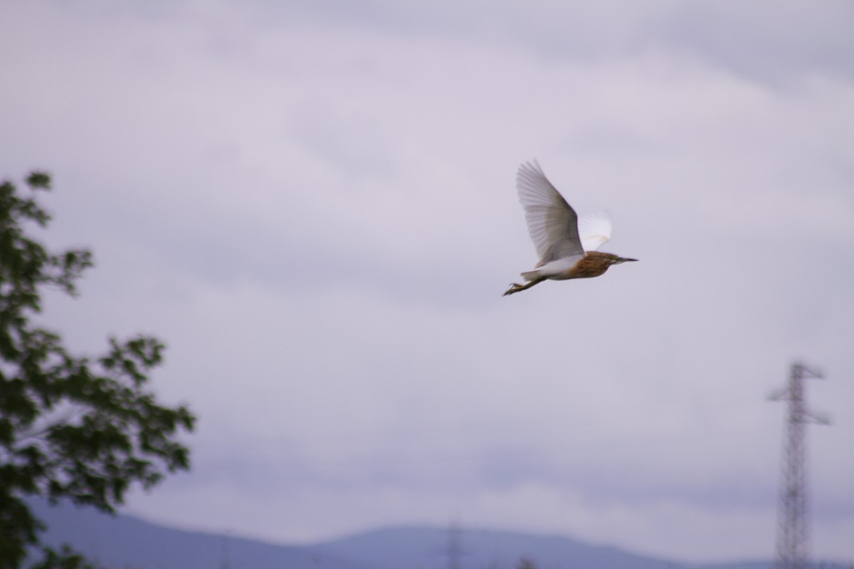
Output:
[[[31,502],[48,525],[44,541],[72,543],[116,569],[444,569],[447,528],[392,527],[314,545],[278,545],[184,531],[91,508]],[[524,557],[539,569],[771,569],[770,561],[684,564],[589,545],[569,537],[462,528],[453,540],[459,569],[516,569]],[[824,564],[824,569],[848,569]]]

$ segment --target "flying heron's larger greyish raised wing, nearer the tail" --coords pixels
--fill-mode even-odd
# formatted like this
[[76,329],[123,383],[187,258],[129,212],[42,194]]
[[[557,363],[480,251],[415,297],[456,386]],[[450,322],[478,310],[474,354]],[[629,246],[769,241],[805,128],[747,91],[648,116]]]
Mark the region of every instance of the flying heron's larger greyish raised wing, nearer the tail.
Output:
[[550,183],[536,160],[519,166],[516,191],[525,210],[528,233],[541,266],[555,259],[583,255],[578,216]]

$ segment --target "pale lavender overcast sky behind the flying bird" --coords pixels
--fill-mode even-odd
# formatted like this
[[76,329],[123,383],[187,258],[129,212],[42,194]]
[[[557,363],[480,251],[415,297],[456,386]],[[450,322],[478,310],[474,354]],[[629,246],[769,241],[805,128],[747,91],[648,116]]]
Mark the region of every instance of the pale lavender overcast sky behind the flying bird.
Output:
[[[807,386],[816,558],[854,559],[854,4],[0,3],[0,177],[54,176],[79,351],[153,333],[193,470],[126,512],[308,543],[381,525],[768,558]],[[611,213],[536,262],[536,158]],[[463,535],[465,541],[465,534]]]

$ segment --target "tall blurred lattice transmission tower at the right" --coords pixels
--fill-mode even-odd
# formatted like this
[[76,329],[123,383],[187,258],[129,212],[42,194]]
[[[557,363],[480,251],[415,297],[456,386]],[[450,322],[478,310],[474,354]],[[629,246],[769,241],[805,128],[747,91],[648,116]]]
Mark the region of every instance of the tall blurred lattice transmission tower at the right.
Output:
[[806,496],[806,424],[828,425],[822,415],[810,413],[804,401],[804,380],[819,379],[822,374],[802,363],[794,363],[787,386],[771,395],[775,401],[787,401],[786,440],[780,502],[777,506],[777,554],[775,569],[806,569],[810,549]]

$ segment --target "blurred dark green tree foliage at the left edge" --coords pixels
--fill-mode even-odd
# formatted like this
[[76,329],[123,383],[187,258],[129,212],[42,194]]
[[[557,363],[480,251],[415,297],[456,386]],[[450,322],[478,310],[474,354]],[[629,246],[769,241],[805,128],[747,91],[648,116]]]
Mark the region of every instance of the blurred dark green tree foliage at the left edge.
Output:
[[27,560],[72,569],[85,561],[40,543],[44,526],[25,498],[113,513],[132,484],[150,488],[190,467],[178,434],[195,417],[183,405],[161,406],[146,389],[161,363],[157,339],[111,339],[102,356],[81,357],[32,322],[44,290],[76,295],[74,282],[92,260],[87,250],[51,253],[32,238],[28,229],[50,221],[35,199],[50,189],[50,176],[32,173],[26,185],[26,195],[0,185],[0,569]]

